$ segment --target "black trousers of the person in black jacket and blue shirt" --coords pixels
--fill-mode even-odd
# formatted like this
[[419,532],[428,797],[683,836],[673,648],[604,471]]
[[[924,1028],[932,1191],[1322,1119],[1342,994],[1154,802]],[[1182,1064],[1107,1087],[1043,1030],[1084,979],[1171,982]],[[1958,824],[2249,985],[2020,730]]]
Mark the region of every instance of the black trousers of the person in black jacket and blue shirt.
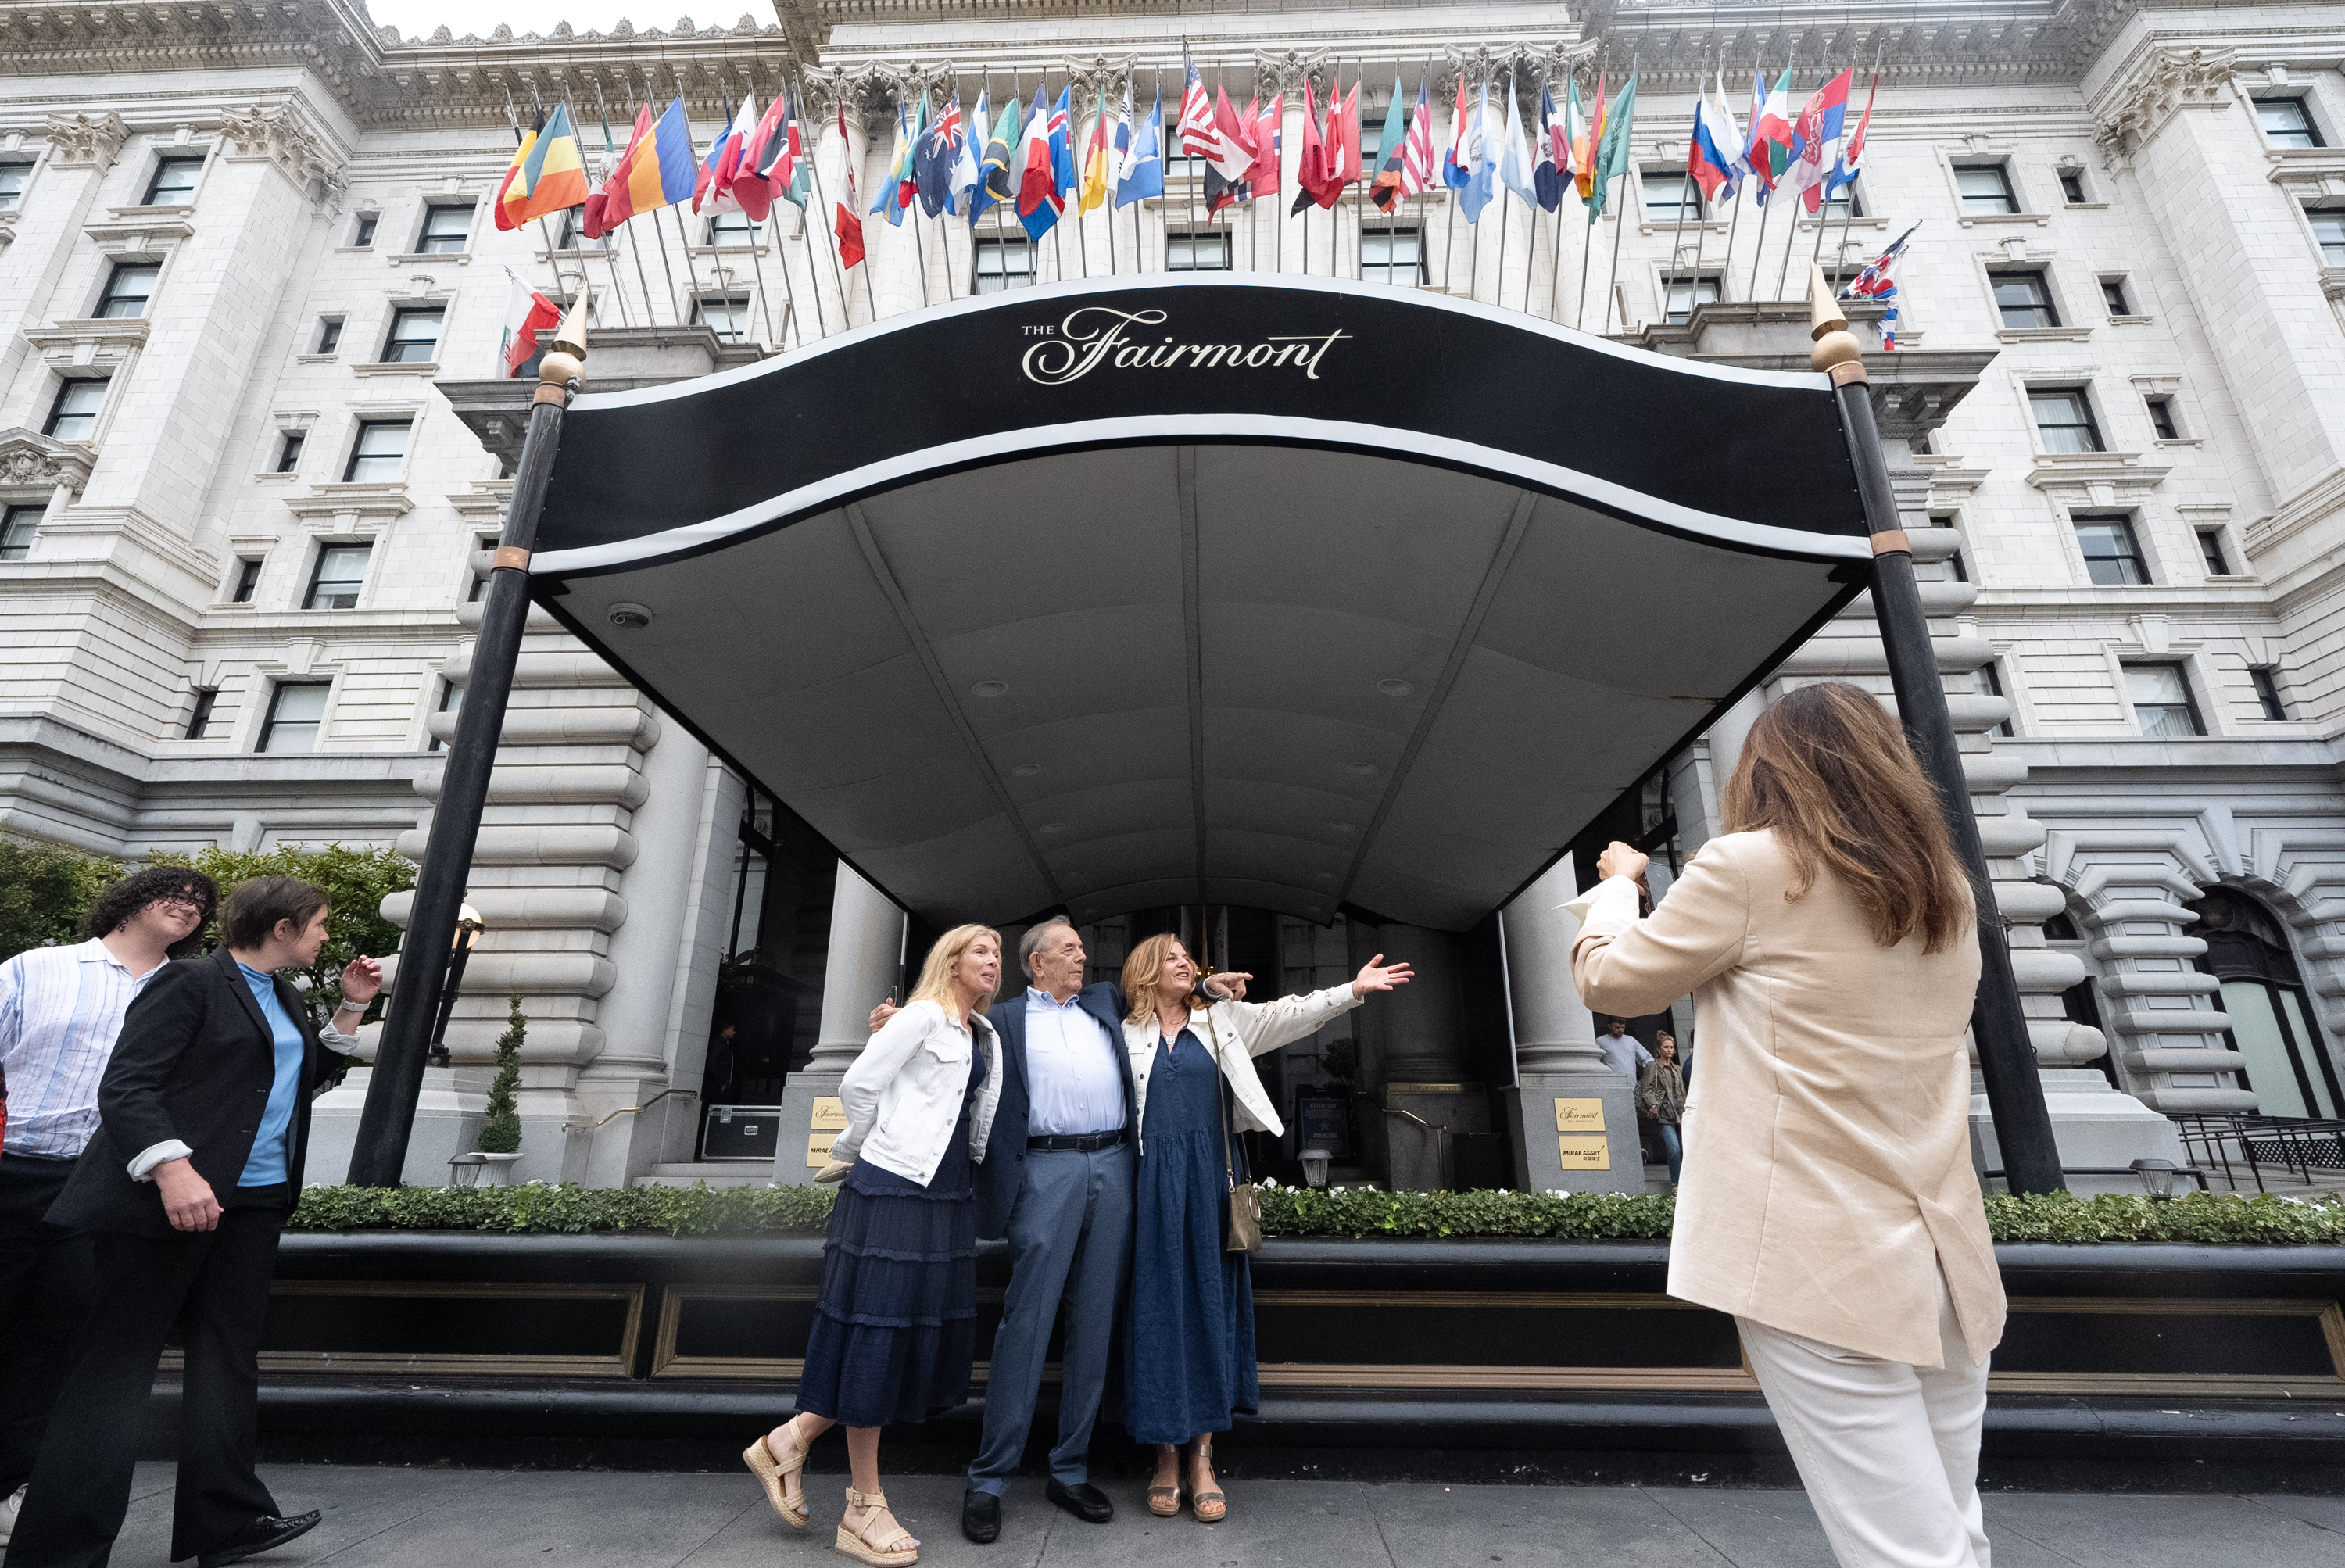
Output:
[[218,1230],[96,1233],[96,1305],[40,1444],[7,1568],[103,1568],[131,1502],[155,1364],[188,1348],[171,1561],[211,1552],[277,1500],[260,1451],[260,1324],[284,1230],[284,1186],[220,1193]]

